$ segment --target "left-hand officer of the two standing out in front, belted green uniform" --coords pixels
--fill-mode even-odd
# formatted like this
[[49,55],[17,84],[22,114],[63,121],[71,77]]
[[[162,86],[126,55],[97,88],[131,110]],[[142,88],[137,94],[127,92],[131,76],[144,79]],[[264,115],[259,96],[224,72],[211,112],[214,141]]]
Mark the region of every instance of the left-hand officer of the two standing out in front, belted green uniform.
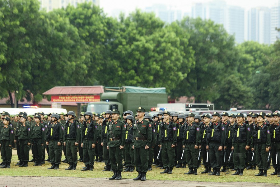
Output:
[[124,141],[126,129],[124,122],[119,120],[119,110],[113,109],[112,119],[107,131],[107,149],[109,149],[111,168],[114,175],[109,180],[121,180],[123,171]]

